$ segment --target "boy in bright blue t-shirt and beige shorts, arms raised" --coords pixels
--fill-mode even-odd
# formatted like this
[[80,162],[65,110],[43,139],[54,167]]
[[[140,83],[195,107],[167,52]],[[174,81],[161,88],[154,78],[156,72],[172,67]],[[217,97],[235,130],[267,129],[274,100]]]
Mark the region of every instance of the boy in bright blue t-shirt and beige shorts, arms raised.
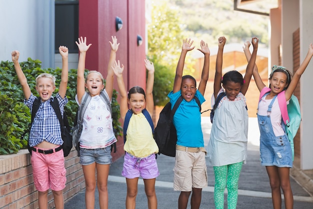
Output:
[[173,169],[174,190],[180,191],[178,198],[179,209],[187,208],[191,191],[191,208],[199,208],[202,188],[207,186],[206,151],[201,130],[201,114],[194,96],[199,99],[200,104],[205,101],[203,94],[208,80],[210,51],[207,44],[201,41],[201,49],[198,50],[204,54],[204,64],[201,81],[198,89],[196,89],[196,81],[192,76],[182,76],[185,56],[188,51],[194,49],[194,47],[191,47],[192,43],[193,41],[190,42],[190,39],[183,40],[173,90],[168,94],[172,104],[171,108],[173,108],[180,95],[183,98],[173,117],[173,124],[177,131],[175,166]]

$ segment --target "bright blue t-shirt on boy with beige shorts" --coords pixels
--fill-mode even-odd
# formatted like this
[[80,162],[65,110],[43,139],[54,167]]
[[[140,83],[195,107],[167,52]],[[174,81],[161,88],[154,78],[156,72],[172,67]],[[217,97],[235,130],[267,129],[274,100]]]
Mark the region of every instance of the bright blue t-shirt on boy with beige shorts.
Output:
[[[171,109],[180,95],[180,90],[174,94],[171,91],[167,95],[170,99]],[[200,104],[205,101],[203,95],[198,90],[196,90],[195,96],[199,99]],[[192,99],[190,102],[184,99],[182,100],[174,114],[173,124],[177,131],[177,145],[204,147],[201,129],[201,113],[195,99]]]

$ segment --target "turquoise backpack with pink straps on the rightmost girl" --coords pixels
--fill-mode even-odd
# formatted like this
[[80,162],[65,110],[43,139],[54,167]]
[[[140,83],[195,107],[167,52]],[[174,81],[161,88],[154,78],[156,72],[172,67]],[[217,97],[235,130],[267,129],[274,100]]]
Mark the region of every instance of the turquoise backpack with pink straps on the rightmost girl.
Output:
[[[270,88],[264,87],[260,92],[259,101],[269,91],[270,91]],[[291,95],[289,104],[287,105],[284,92],[285,91],[282,91],[279,94],[277,94],[277,100],[278,100],[278,105],[279,105],[279,109],[281,112],[282,122],[285,125],[283,128],[290,141],[290,146],[292,150],[292,160],[293,160],[294,159],[293,138],[300,126],[301,111],[300,111],[299,101],[296,98],[296,96],[294,96],[293,94]]]

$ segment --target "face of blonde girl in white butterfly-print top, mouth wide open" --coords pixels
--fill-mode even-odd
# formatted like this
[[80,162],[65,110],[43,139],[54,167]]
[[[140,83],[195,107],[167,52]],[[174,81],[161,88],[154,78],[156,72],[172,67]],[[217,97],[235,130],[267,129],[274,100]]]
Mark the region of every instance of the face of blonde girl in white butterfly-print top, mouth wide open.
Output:
[[104,88],[103,80],[98,73],[89,73],[87,75],[85,87],[91,96],[99,95]]

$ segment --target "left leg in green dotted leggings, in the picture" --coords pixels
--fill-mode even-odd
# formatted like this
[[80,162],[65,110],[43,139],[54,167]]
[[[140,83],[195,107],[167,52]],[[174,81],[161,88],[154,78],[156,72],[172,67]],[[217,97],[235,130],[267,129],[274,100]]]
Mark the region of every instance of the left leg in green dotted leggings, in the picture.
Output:
[[224,208],[224,190],[226,187],[227,165],[213,166],[215,185],[214,185],[214,203],[215,209]]

